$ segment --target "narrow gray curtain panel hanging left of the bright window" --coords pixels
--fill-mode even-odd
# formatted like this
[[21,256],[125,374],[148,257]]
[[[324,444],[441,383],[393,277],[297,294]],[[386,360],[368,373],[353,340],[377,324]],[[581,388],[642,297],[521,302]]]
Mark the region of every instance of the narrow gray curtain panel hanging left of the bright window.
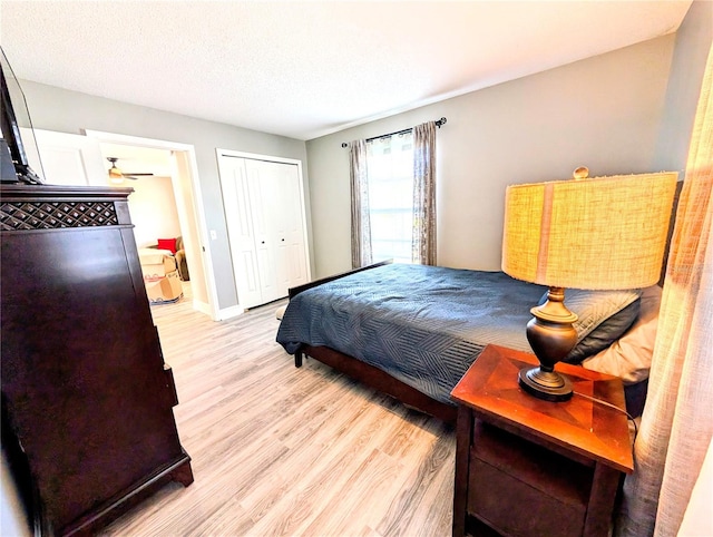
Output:
[[349,144],[352,191],[352,267],[371,264],[371,225],[369,221],[369,182],[367,176],[367,141]]

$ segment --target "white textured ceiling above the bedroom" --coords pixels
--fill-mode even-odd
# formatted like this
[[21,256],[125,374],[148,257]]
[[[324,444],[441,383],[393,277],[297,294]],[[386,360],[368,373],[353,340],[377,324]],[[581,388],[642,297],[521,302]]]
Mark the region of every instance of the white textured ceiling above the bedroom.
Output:
[[312,139],[675,31],[686,1],[0,2],[16,75]]

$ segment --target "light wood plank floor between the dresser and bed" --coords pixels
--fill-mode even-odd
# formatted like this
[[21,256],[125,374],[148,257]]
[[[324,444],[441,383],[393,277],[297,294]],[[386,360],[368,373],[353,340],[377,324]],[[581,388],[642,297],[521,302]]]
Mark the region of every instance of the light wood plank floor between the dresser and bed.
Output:
[[314,360],[295,369],[275,342],[283,303],[224,322],[189,297],[152,307],[195,482],[104,535],[451,534],[452,428]]

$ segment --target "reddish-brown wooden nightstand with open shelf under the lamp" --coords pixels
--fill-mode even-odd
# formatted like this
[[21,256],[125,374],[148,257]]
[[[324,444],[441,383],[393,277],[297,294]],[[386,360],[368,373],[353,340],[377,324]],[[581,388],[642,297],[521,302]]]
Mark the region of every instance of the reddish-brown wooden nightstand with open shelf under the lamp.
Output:
[[634,469],[622,381],[557,364],[565,402],[524,392],[533,354],[488,345],[451,392],[458,402],[453,535],[607,536]]

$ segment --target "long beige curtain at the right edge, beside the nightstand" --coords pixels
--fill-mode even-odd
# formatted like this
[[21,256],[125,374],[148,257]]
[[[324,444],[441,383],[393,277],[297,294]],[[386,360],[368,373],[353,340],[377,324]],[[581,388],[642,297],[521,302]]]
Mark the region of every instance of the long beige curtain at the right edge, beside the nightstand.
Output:
[[712,85],[713,49],[678,203],[635,471],[624,485],[623,536],[678,535],[713,437]]

